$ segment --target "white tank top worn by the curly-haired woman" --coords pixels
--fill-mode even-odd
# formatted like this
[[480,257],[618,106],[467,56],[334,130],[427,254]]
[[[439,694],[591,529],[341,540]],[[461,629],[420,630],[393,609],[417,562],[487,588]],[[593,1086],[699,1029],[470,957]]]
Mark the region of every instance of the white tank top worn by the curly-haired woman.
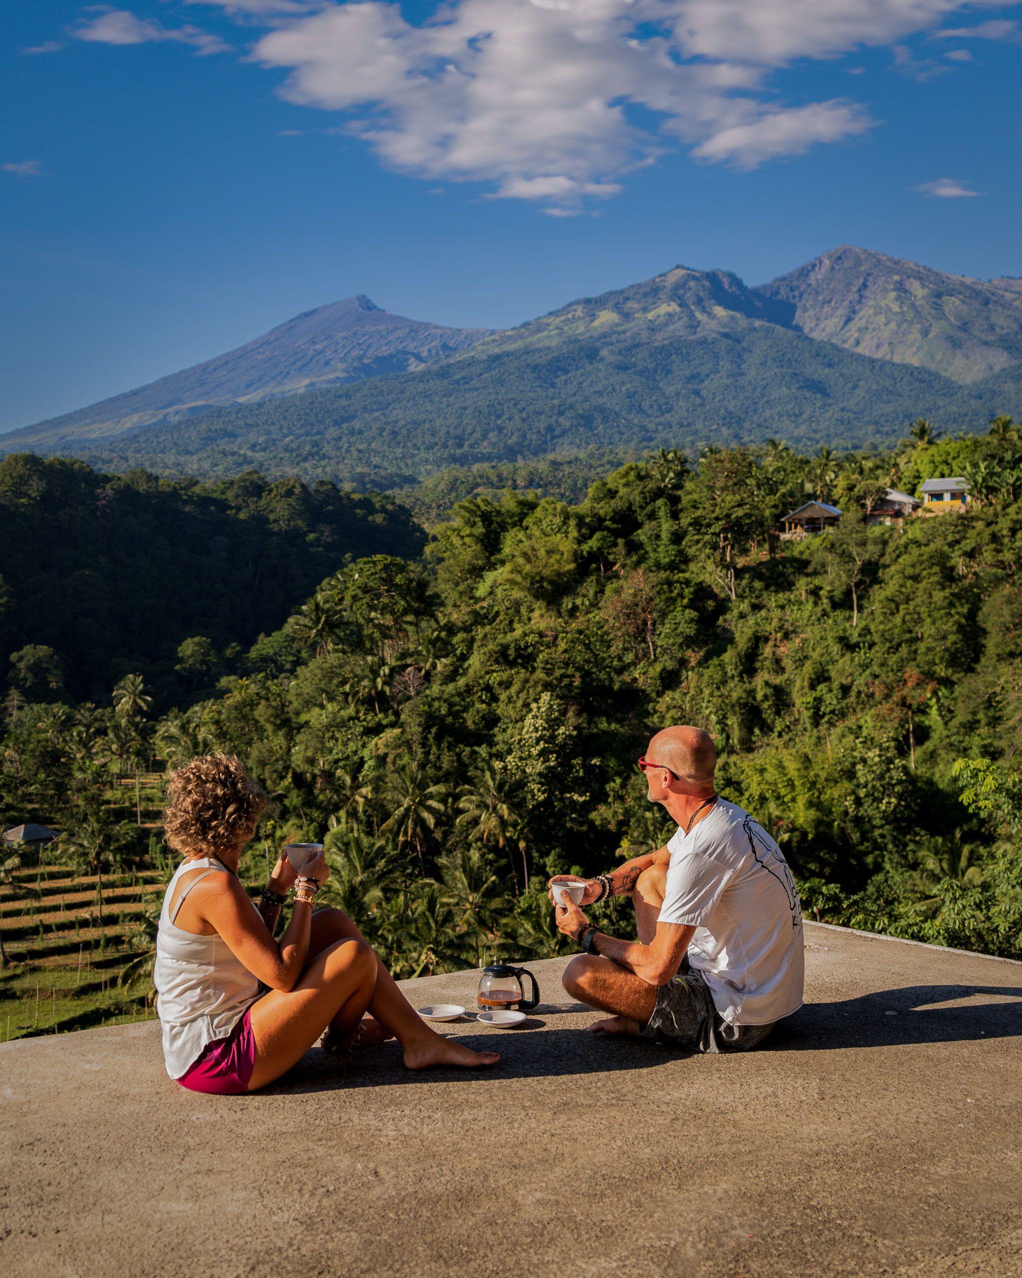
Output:
[[[210,874],[230,874],[213,858],[194,858],[178,866],[164,896],[160,930],[156,934],[153,984],[160,994],[157,1011],[164,1030],[164,1059],[171,1079],[180,1079],[199,1058],[207,1043],[225,1039],[245,1008],[259,997],[259,982],[234,956],[226,941],[216,933],[199,937],[175,925],[184,898],[206,878],[197,874],[174,905],[170,902],[178,879],[185,870],[206,869]],[[252,905],[256,915],[259,911]]]

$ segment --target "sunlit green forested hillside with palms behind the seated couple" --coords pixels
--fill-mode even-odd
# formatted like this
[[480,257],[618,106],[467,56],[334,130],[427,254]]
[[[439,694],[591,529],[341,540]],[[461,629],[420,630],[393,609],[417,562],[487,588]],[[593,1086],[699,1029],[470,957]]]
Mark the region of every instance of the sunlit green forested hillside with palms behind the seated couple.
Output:
[[[867,524],[887,484],[962,468],[967,512]],[[556,952],[543,881],[663,841],[635,759],[689,722],[812,916],[1022,957],[1019,495],[1002,419],[883,455],[662,452],[577,504],[477,496],[420,560],[327,575],[192,704],[155,717],[130,675],[98,709],[9,695],[0,813],[107,846],[102,760],[238,751],[276,800],[249,872],[324,836],[332,898],[408,975]],[[778,539],[807,496],[838,529]]]

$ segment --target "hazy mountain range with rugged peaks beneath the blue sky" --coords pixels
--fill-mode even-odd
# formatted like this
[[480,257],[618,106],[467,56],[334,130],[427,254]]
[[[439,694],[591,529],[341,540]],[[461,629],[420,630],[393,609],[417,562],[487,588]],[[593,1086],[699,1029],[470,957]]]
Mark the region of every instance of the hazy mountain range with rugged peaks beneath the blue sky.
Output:
[[503,332],[358,296],[0,449],[390,487],[589,446],[879,445],[919,415],[981,428],[1019,394],[1022,281],[844,245],[756,288],[678,266]]

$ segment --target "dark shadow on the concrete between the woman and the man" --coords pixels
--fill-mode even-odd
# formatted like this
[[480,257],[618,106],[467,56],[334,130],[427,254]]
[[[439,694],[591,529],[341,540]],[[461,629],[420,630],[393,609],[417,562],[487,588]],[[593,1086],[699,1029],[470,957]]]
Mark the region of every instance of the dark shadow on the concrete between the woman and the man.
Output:
[[[533,1029],[531,1026],[535,1026]],[[406,1070],[397,1044],[360,1048],[346,1056],[328,1056],[314,1048],[264,1095],[333,1091],[341,1088],[388,1088],[409,1084],[461,1082],[466,1086],[508,1079],[563,1077],[566,1075],[612,1074],[645,1070],[671,1059],[655,1043],[644,1039],[614,1039],[586,1034],[584,1029],[545,1029],[535,1017],[515,1029],[454,1036],[480,1052],[500,1052],[492,1070]]]

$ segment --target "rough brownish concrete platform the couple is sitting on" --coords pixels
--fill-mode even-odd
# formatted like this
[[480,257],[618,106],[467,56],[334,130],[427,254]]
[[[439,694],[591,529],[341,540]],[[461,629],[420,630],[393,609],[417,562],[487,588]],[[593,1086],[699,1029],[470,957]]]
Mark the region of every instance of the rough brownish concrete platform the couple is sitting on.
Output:
[[167,1080],[155,1024],[5,1044],[0,1273],[1022,1275],[1022,965],[806,938],[809,1003],[747,1056],[583,1033],[562,960],[525,1026],[450,1026],[491,1074],[313,1051],[217,1098]]

